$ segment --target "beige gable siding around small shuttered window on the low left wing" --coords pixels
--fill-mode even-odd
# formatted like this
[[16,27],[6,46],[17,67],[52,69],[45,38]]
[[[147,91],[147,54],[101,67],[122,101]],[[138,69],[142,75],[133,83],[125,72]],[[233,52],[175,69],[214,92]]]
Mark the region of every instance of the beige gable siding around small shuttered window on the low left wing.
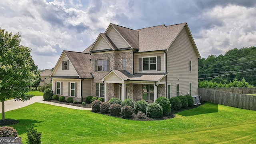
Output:
[[62,70],[62,61],[68,60],[68,57],[66,54],[64,54],[63,58],[59,61],[59,64],[57,64],[57,70],[52,76],[78,76],[76,73],[76,70],[71,62],[69,62],[69,70]]

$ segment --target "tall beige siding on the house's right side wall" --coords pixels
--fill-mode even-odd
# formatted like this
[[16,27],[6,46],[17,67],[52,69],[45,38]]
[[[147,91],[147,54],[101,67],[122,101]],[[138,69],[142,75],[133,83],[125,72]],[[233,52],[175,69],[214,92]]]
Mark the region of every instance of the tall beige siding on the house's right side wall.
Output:
[[[192,60],[192,72],[189,72],[189,60]],[[167,81],[172,84],[171,96],[176,96],[176,84],[180,84],[180,92],[189,92],[192,83],[192,95],[198,94],[198,56],[192,46],[188,34],[183,29],[167,51]],[[178,80],[179,79],[179,80]]]

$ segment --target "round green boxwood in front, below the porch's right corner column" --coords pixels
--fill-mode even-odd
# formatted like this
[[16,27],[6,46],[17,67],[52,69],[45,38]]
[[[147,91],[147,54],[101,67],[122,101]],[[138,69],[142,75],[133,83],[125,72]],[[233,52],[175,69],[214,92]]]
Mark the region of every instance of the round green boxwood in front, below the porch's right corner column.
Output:
[[159,118],[163,116],[163,108],[160,104],[152,102],[146,108],[146,115],[150,118]]

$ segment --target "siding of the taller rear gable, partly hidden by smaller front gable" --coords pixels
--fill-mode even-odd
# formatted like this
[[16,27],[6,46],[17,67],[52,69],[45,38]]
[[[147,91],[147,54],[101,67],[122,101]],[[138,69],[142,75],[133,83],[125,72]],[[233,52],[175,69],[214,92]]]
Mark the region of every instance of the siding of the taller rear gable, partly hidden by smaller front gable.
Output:
[[112,42],[116,45],[117,48],[128,48],[130,47],[124,39],[116,32],[114,28],[110,28],[110,30],[107,33],[108,37]]

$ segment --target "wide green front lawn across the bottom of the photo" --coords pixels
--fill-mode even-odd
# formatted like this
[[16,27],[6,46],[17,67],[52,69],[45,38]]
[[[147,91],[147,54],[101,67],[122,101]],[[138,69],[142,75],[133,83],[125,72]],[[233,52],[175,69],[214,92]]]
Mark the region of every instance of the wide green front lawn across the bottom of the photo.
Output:
[[160,121],[133,121],[89,110],[35,103],[5,113],[26,143],[26,127],[42,132],[43,144],[255,143],[256,111],[206,103]]

